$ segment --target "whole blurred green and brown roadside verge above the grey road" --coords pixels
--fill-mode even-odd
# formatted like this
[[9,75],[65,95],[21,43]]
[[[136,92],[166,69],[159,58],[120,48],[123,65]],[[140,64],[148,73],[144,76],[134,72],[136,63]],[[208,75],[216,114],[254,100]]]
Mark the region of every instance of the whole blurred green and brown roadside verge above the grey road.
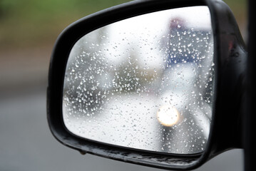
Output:
[[[0,90],[17,83],[46,83],[51,50],[63,28],[126,1],[0,0]],[[246,38],[246,0],[225,2]]]

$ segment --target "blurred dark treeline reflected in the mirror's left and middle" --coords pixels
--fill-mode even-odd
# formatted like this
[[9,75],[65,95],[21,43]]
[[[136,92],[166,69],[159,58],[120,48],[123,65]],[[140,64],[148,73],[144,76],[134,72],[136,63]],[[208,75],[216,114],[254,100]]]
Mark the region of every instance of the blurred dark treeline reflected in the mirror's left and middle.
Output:
[[123,51],[119,49],[120,63],[108,63],[108,56],[113,53],[104,50],[112,45],[116,48],[120,42],[110,43],[107,32],[104,27],[88,33],[76,43],[68,59],[64,95],[83,113],[98,113],[103,110],[104,99],[115,95],[153,92],[159,77],[159,73],[139,60],[141,54],[136,44]]

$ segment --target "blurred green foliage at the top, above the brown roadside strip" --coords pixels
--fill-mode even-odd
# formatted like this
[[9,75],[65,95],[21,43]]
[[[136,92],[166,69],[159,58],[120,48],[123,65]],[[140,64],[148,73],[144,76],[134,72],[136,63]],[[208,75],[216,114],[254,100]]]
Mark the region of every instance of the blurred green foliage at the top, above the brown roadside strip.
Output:
[[[0,0],[0,48],[52,43],[73,21],[129,0]],[[246,0],[225,0],[238,22]]]

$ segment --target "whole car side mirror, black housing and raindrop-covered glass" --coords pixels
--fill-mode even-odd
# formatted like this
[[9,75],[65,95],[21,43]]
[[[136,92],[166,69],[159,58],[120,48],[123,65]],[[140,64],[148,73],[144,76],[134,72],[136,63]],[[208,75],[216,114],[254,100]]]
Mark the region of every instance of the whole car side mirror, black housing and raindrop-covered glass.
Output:
[[68,26],[48,76],[63,145],[191,170],[241,143],[246,51],[222,1],[132,1]]

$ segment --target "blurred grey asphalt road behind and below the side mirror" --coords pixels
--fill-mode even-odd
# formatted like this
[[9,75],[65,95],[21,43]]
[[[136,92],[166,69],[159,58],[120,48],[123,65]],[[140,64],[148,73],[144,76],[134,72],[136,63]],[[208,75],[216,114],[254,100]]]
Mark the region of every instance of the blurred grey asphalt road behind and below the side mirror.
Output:
[[[1,90],[0,170],[158,170],[93,155],[81,155],[57,142],[46,120],[46,86]],[[3,93],[5,92],[5,93]],[[242,150],[231,150],[199,170],[242,170]]]

